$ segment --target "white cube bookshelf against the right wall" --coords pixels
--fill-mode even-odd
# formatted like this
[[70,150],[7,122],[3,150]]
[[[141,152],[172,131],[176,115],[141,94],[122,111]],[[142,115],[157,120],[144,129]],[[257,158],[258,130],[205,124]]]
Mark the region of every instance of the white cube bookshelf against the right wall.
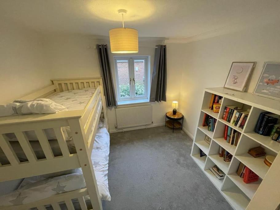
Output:
[[[214,113],[213,110],[209,109],[212,94],[223,97],[219,113]],[[243,129],[237,128],[222,119],[223,111],[228,105],[235,105],[243,110],[250,110]],[[234,209],[247,208],[262,180],[266,178],[266,173],[269,169],[263,162],[265,156],[254,158],[247,153],[248,150],[261,146],[265,149],[267,155],[276,156],[280,152],[280,143],[271,140],[270,137],[254,132],[259,114],[264,111],[280,115],[280,101],[222,87],[204,89],[202,108],[191,149],[191,157]],[[202,126],[204,113],[217,119],[214,132],[208,131],[207,127]],[[230,145],[224,140],[225,125],[241,133],[237,146]],[[204,141],[206,135],[211,138],[210,145]],[[233,155],[230,162],[225,162],[223,157],[219,157],[220,146]],[[200,157],[200,149],[206,156]],[[243,178],[236,174],[240,162],[259,176],[257,182],[246,184],[243,182]],[[226,174],[224,179],[219,180],[209,170],[214,165],[217,165]]]

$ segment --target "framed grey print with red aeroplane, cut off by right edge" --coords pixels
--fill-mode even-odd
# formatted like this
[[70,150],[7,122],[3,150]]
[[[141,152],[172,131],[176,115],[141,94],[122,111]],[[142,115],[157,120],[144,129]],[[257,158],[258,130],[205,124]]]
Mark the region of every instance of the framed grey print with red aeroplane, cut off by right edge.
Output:
[[280,63],[265,62],[253,94],[280,100],[279,80]]

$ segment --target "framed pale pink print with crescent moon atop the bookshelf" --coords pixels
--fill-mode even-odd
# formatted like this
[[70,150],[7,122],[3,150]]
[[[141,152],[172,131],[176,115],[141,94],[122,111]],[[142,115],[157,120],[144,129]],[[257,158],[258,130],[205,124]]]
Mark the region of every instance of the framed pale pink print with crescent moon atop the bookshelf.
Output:
[[224,87],[244,92],[248,78],[255,65],[256,62],[232,62]]

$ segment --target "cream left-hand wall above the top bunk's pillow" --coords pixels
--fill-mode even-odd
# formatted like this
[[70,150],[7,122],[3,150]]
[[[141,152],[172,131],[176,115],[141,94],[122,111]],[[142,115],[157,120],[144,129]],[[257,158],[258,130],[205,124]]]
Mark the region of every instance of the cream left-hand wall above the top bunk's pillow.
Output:
[[0,103],[50,85],[43,36],[3,19],[0,30]]

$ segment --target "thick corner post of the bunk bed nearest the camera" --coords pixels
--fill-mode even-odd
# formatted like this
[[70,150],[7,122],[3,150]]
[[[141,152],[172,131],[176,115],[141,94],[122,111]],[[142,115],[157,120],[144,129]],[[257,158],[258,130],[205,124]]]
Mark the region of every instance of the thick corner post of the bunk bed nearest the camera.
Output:
[[80,119],[70,119],[68,123],[72,132],[92,207],[94,210],[102,210],[102,202],[91,160],[91,151],[89,151],[87,141],[85,141],[85,131],[81,128]]

